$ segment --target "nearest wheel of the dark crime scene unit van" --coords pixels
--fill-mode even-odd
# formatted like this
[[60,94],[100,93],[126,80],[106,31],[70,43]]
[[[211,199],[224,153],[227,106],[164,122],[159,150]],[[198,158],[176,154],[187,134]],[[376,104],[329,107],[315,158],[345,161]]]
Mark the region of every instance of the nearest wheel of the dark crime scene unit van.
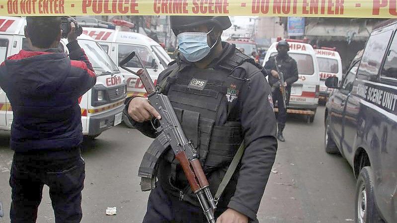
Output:
[[357,178],[356,223],[383,223],[375,204],[374,179],[370,166],[362,168]]

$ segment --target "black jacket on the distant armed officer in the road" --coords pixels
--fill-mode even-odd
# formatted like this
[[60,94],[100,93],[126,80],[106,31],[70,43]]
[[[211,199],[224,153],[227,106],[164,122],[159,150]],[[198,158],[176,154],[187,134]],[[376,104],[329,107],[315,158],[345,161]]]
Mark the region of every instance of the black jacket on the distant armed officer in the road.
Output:
[[264,69],[266,70],[266,73],[269,76],[270,86],[272,86],[274,83],[276,83],[279,80],[273,77],[270,73],[270,71],[272,70],[277,71],[275,57],[277,57],[277,63],[281,65],[281,67],[279,67],[279,71],[284,74],[284,81],[287,82],[287,87],[291,88],[291,85],[298,80],[299,75],[298,75],[297,63],[290,56],[281,58],[278,55],[276,55],[270,57],[269,60],[266,62]]

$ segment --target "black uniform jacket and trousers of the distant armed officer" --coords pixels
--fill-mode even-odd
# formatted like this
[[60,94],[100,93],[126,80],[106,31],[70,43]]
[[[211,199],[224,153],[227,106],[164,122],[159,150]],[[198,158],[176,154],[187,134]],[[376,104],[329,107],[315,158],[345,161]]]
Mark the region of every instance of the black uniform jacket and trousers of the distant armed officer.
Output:
[[298,67],[296,61],[290,57],[280,57],[278,55],[270,57],[269,60],[266,62],[264,69],[266,73],[269,74],[269,84],[272,86],[273,90],[273,102],[277,103],[278,106],[278,114],[277,114],[277,122],[279,124],[279,128],[284,129],[285,123],[287,121],[287,108],[284,108],[283,104],[283,97],[280,92],[280,88],[278,87],[278,78],[273,77],[270,74],[271,70],[277,71],[275,57],[277,57],[277,64],[278,70],[284,74],[284,81],[287,82],[286,87],[286,94],[287,94],[287,101],[286,104],[288,105],[291,93],[291,86],[292,84],[298,80]]

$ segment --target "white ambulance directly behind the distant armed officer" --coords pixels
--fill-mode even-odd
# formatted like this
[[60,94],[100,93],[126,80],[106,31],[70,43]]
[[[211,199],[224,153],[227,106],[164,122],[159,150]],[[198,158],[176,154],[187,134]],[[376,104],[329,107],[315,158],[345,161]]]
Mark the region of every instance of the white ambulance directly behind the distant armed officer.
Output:
[[[278,41],[281,40],[280,38]],[[316,52],[312,45],[302,40],[287,39],[290,55],[298,64],[299,79],[292,84],[287,113],[306,115],[308,123],[314,121],[318,106],[319,72]],[[277,42],[273,43],[265,56],[263,66],[271,56],[277,54]],[[278,109],[275,108],[277,112]]]

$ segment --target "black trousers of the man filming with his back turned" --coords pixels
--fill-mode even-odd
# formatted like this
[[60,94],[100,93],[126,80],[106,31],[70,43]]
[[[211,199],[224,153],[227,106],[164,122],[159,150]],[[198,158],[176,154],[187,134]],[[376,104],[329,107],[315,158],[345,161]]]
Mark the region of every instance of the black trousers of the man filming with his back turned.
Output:
[[[54,154],[15,153],[11,166],[11,223],[35,223],[44,184],[50,198],[56,223],[79,223],[82,218],[81,190],[84,187],[85,163],[73,151]],[[75,154],[76,153],[76,154]],[[62,155],[62,154],[61,154]]]

